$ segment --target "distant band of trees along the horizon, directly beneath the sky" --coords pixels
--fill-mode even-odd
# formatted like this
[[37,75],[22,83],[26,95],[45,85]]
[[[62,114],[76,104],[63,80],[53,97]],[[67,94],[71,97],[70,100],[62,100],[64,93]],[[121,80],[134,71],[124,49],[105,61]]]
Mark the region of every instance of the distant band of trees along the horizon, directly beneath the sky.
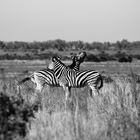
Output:
[[58,51],[65,50],[108,50],[108,49],[132,49],[140,46],[140,41],[129,42],[126,39],[117,41],[115,43],[111,42],[83,42],[83,41],[65,41],[65,40],[48,40],[43,42],[4,42],[0,41],[0,49],[4,50],[45,50],[45,49],[57,49]]

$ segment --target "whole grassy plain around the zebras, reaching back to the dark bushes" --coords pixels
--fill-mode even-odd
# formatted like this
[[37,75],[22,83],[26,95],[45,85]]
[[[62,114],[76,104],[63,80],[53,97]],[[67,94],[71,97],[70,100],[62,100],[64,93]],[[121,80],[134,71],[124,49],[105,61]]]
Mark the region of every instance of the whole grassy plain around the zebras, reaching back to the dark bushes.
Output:
[[[12,131],[10,135],[11,130],[4,125],[3,129],[8,130],[9,133],[5,133],[9,137],[6,137],[5,133],[0,133],[0,139],[140,139],[139,62],[82,64],[81,69],[100,71],[104,76],[104,86],[100,90],[100,95],[93,98],[89,96],[88,87],[72,89],[67,110],[64,107],[65,95],[61,87],[50,89],[44,87],[42,93],[38,93],[31,82],[25,83],[20,88],[17,86],[17,80],[31,71],[45,68],[47,64],[48,61],[1,61],[0,92],[3,93],[1,97],[4,95],[9,97],[11,106],[15,104],[13,98],[21,102],[17,105],[20,109],[14,107],[18,111],[16,115],[8,119],[15,117],[13,120],[17,120],[20,125],[24,123],[26,126],[23,129],[25,135],[21,135],[17,130]],[[36,106],[37,109],[35,109]],[[28,121],[24,121],[20,115],[23,114],[23,110],[28,112],[25,115],[29,118]],[[33,113],[34,117],[29,112]],[[15,123],[12,124],[15,125]],[[16,128],[20,130],[20,127]]]

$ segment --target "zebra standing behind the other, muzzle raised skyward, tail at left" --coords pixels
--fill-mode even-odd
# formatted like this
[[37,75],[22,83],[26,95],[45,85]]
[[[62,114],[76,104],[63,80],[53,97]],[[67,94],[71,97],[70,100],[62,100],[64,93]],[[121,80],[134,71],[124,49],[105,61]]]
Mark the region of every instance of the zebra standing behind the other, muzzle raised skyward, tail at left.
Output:
[[[74,71],[78,71],[80,64],[84,61],[85,57],[86,57],[86,52],[80,52],[78,55],[73,56],[72,64],[66,66],[66,68],[73,69]],[[45,85],[52,86],[52,87],[60,86],[58,79],[54,74],[54,71],[49,68],[33,72],[30,76],[20,81],[19,85],[23,84],[28,80],[31,80],[36,85],[36,90],[39,92],[42,91]]]

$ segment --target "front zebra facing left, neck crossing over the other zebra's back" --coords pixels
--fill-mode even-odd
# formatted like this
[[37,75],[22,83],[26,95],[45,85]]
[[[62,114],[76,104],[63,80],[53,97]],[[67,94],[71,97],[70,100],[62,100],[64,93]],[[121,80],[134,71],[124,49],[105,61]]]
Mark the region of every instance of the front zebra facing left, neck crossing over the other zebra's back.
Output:
[[103,79],[99,72],[95,70],[74,71],[68,69],[57,57],[52,58],[52,63],[49,68],[54,70],[54,74],[58,79],[59,84],[66,92],[66,101],[70,96],[68,88],[81,88],[89,86],[93,94],[99,94],[99,89],[103,86]]

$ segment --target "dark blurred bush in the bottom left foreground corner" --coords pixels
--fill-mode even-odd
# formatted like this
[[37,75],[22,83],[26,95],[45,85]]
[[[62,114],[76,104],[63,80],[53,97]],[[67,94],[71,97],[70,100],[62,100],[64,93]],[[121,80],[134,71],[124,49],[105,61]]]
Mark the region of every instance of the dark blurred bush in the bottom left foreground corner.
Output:
[[30,117],[34,117],[33,110],[33,107],[25,105],[22,99],[0,93],[0,139],[25,137],[26,123]]

